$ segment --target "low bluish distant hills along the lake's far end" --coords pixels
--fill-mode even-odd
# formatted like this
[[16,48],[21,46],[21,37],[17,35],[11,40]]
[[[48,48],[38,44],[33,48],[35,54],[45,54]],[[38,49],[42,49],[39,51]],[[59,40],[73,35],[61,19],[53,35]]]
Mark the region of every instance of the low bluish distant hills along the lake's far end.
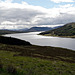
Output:
[[51,27],[32,27],[30,29],[24,28],[24,29],[0,29],[0,35],[5,34],[14,34],[14,33],[27,33],[27,32],[36,32],[36,31],[48,31],[52,29],[59,28],[60,26],[51,28]]

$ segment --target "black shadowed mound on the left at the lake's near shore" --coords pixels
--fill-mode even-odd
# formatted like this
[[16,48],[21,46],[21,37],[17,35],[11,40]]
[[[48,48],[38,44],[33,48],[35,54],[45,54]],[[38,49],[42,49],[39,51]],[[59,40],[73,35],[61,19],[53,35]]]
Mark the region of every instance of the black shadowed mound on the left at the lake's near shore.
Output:
[[0,36],[0,43],[9,45],[31,45],[29,42],[17,38]]

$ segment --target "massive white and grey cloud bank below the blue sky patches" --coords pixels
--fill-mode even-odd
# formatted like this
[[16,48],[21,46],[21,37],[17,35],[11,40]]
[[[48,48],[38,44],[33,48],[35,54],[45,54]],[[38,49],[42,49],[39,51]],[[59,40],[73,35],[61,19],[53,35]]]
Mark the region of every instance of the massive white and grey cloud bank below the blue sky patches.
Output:
[[71,4],[46,9],[26,2],[0,2],[0,29],[60,25],[69,22],[75,22],[75,7]]

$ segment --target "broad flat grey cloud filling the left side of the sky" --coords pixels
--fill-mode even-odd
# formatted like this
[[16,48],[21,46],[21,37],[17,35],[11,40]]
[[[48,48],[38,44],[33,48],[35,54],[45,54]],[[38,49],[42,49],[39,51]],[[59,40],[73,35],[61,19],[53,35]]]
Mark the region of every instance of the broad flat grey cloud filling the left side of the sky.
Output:
[[1,21],[26,21],[30,22],[36,15],[41,15],[43,13],[31,10],[31,9],[0,9],[0,20]]

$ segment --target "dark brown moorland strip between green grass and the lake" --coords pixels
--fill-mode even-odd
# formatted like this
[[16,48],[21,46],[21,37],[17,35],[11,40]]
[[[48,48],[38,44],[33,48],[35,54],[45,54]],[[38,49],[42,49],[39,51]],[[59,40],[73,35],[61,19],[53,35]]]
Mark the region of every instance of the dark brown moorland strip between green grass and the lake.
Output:
[[14,56],[30,56],[48,60],[62,60],[75,63],[75,51],[47,46],[18,46],[0,44],[0,50],[20,52]]

